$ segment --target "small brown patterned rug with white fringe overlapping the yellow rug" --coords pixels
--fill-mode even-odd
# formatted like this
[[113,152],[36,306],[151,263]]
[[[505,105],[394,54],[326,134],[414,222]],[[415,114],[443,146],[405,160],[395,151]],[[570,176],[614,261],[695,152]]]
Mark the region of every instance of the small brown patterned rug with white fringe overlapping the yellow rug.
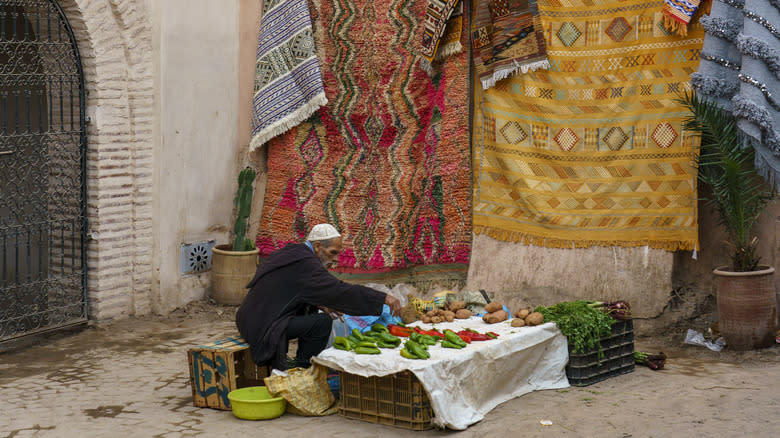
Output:
[[474,73],[482,88],[550,67],[536,0],[474,0],[473,8]]

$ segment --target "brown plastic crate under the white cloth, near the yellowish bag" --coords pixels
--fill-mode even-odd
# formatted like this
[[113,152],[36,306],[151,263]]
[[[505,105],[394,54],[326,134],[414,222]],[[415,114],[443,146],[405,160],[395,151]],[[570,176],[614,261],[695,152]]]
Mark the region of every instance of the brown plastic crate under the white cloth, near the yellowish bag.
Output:
[[339,415],[411,430],[433,427],[428,393],[409,371],[383,377],[339,373]]

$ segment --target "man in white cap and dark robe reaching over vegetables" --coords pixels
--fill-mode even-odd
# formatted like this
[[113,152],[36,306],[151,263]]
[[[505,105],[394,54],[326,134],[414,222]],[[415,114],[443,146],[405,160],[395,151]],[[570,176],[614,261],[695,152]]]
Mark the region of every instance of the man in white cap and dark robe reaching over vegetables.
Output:
[[[306,243],[288,244],[271,253],[257,269],[236,326],[249,343],[257,365],[287,369],[287,342],[298,339],[295,366],[308,367],[328,342],[331,315],[381,315],[387,304],[401,311],[397,298],[374,289],[345,283],[327,268],[338,261],[341,234],[333,225],[312,228]],[[317,313],[317,309],[325,313]],[[313,310],[313,312],[312,312]]]

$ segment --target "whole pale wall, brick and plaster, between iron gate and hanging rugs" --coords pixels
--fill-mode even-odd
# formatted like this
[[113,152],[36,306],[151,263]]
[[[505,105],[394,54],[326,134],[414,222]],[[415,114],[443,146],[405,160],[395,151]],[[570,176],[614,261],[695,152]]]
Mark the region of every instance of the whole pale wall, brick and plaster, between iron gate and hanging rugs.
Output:
[[91,119],[91,317],[166,313],[208,293],[208,273],[180,275],[180,245],[229,236],[260,0],[59,3]]

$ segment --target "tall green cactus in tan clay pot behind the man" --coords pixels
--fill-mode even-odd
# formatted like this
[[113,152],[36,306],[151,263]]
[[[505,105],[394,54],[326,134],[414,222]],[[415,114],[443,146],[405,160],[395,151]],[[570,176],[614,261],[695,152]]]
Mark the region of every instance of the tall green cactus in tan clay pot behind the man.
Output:
[[233,200],[236,205],[233,243],[212,248],[211,297],[219,304],[241,304],[247,293],[246,285],[259,263],[258,250],[252,239],[246,237],[254,180],[255,171],[249,167],[239,173],[238,191]]

